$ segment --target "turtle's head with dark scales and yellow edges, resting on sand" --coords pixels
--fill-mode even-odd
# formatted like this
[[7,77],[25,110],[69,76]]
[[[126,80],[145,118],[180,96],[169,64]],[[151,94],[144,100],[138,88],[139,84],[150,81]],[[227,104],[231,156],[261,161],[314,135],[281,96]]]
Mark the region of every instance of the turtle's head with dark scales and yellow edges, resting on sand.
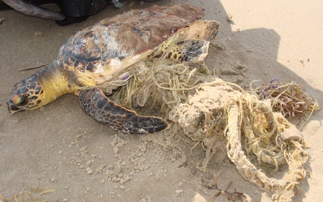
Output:
[[38,75],[33,74],[14,85],[7,101],[10,113],[38,108],[46,103],[43,99],[44,90]]

